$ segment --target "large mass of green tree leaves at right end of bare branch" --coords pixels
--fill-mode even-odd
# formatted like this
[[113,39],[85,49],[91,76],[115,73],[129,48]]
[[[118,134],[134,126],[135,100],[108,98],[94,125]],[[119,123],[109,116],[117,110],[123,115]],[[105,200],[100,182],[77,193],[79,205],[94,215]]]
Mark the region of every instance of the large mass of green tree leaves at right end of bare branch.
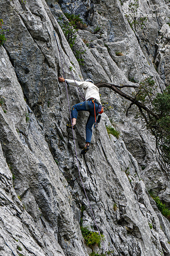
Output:
[[126,114],[130,112],[136,119],[141,120],[155,137],[160,164],[168,169],[170,167],[170,86],[166,87],[163,93],[158,93],[155,81],[149,76],[140,82],[132,96],[149,111],[137,108],[131,103]]

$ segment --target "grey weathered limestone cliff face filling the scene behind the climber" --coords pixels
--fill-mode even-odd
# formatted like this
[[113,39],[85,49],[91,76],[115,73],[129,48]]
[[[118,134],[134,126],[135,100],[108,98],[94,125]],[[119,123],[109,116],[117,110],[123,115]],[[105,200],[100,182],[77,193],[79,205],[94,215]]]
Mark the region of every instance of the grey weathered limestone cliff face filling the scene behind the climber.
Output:
[[[92,252],[79,226],[83,218],[83,226],[96,230],[81,182],[78,179],[66,187],[78,177],[78,167],[72,132],[65,126],[69,120],[68,102],[65,85],[57,79],[62,69],[53,30],[68,66],[74,63],[77,80],[88,76],[95,82],[130,84],[152,75],[159,90],[169,81],[170,27],[165,17],[147,21],[139,33],[139,28],[130,28],[123,14],[129,1],[59,3],[63,12],[80,13],[88,25],[78,31],[77,37],[78,47],[86,50],[84,66],[79,67],[57,23],[63,13],[57,2],[1,0],[0,18],[10,30],[7,42],[0,47],[3,256],[88,256]],[[141,2],[139,6],[143,12],[146,10]],[[164,1],[160,6],[169,10]],[[102,26],[102,33],[92,34],[96,26]],[[160,28],[163,38],[156,32]],[[84,38],[89,40],[89,47]],[[123,55],[117,56],[116,52]],[[151,57],[156,58],[158,73]],[[64,62],[63,68],[70,77]],[[70,106],[81,100],[76,88],[70,86],[68,92]],[[85,156],[79,153],[85,140],[86,113],[79,113],[75,137],[81,177],[105,236],[106,249],[114,251],[115,256],[168,256],[170,223],[146,188],[153,189],[168,204],[169,175],[160,169],[153,139],[132,117],[125,116],[126,102],[109,89],[101,89],[101,94],[111,108],[105,108],[107,115],[102,115]],[[112,116],[121,131],[119,139],[113,135],[109,138],[106,131],[105,124],[111,125],[108,117]],[[97,250],[104,253],[102,246]]]

